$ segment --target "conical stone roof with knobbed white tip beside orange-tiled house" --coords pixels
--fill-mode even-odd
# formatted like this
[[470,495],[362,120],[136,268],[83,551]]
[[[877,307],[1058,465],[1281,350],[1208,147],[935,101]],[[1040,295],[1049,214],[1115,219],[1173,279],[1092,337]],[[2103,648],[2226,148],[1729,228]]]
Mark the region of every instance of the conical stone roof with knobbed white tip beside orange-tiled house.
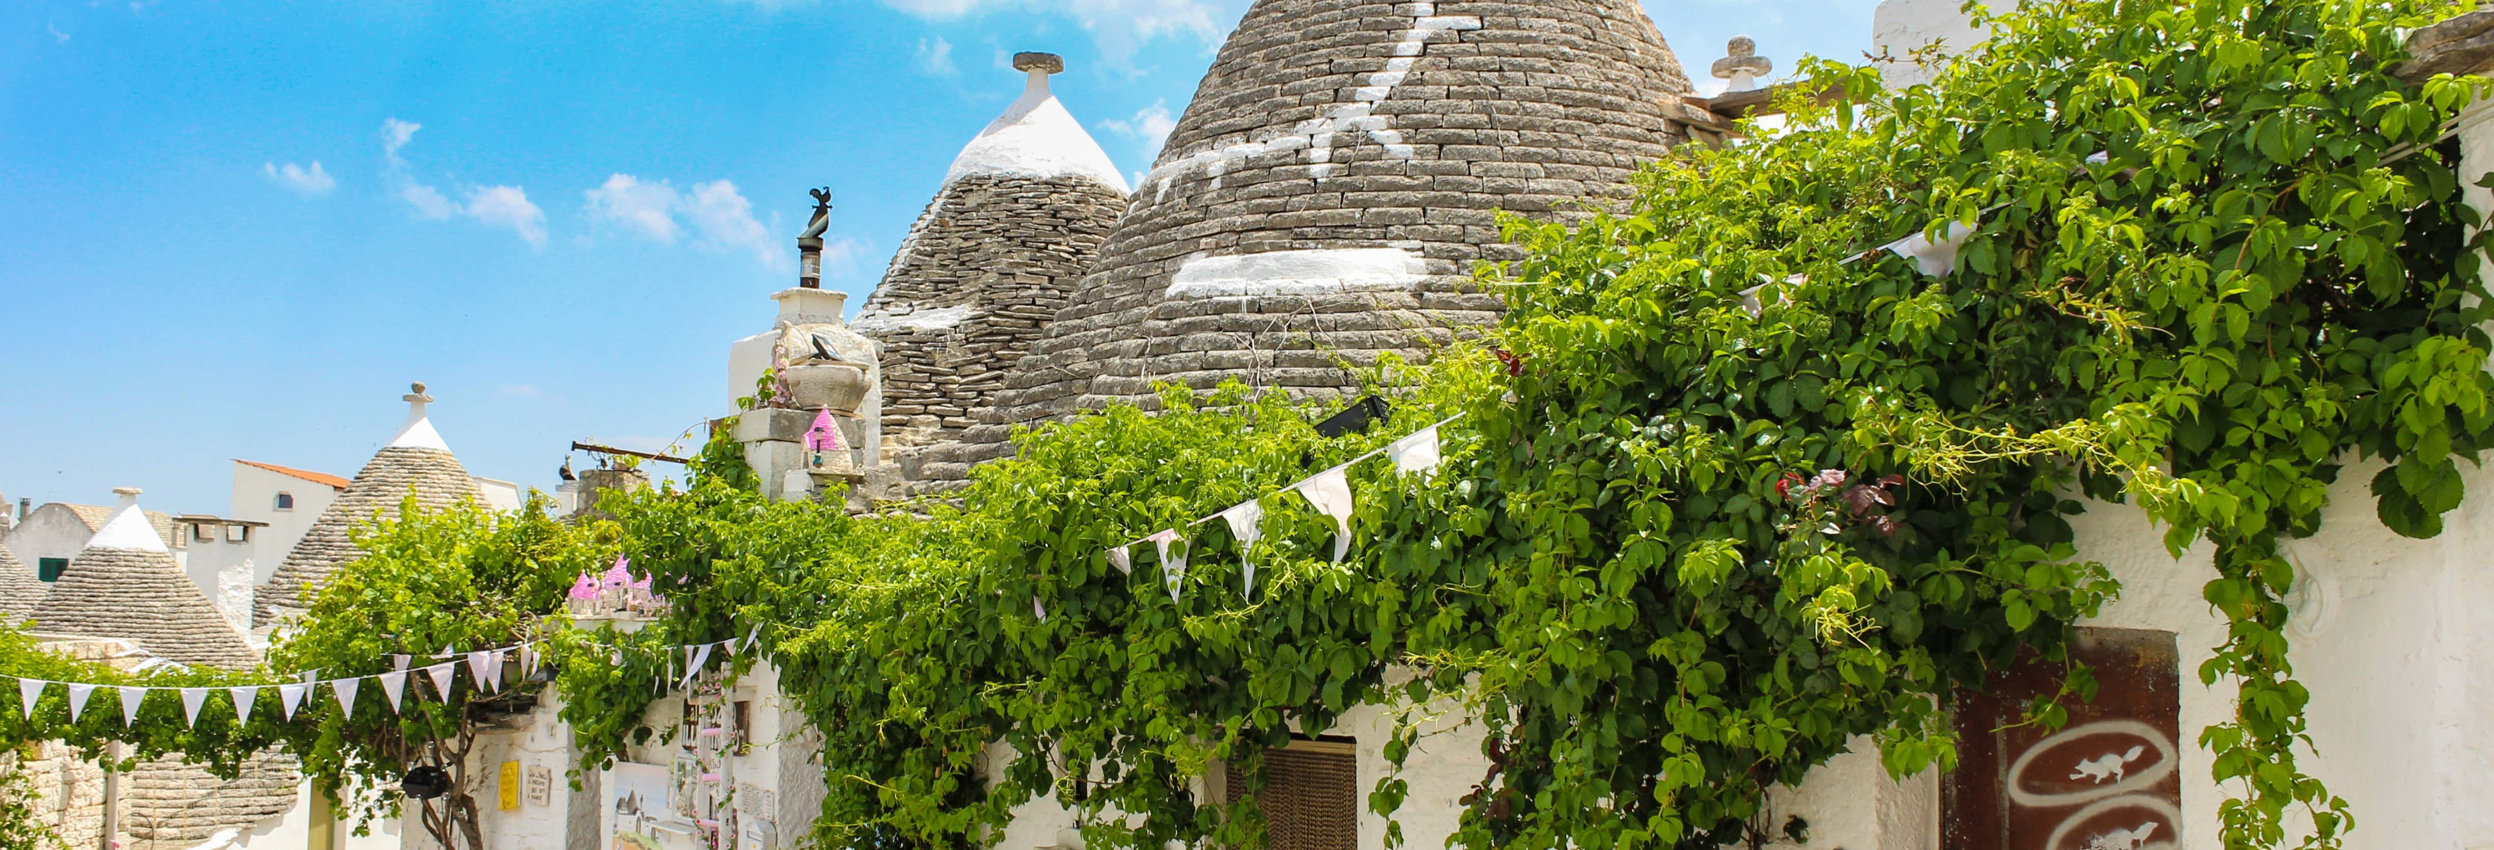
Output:
[[344,494],[329,509],[319,511],[312,521],[312,531],[304,531],[302,541],[294,541],[294,551],[287,551],[287,561],[269,573],[269,581],[252,593],[252,628],[277,626],[279,618],[299,613],[312,601],[312,588],[317,588],[329,573],[334,573],[347,561],[362,556],[354,548],[352,531],[357,526],[372,523],[374,513],[384,518],[399,516],[399,501],[407,494],[416,496],[424,509],[444,509],[459,504],[461,499],[484,499],[476,491],[476,479],[459,466],[451,449],[434,431],[434,421],[424,414],[431,396],[424,394],[424,384],[416,384],[407,394],[407,424],[399,426],[399,436],[372,454],[372,461],[354,474],[354,484],[347,484]]

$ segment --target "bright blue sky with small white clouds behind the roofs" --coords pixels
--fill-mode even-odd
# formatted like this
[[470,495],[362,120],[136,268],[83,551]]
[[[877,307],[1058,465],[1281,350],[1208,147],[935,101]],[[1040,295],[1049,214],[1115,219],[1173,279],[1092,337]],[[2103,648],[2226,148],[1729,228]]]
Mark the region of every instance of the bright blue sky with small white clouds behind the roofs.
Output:
[[[1649,2],[1706,77],[1748,32],[1858,57],[1873,0]],[[1067,57],[1127,172],[1245,0],[0,5],[0,494],[224,513],[227,459],[352,476],[421,379],[469,471],[726,411],[793,282],[873,289],[945,165]]]

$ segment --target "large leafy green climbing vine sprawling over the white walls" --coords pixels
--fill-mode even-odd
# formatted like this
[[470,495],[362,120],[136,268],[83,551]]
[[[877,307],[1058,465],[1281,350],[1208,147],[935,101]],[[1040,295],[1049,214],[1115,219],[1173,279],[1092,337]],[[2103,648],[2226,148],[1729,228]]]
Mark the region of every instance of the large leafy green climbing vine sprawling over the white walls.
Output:
[[[1948,768],[1953,693],[2065,661],[2120,593],[2070,518],[2130,501],[2217,571],[2200,676],[2237,710],[2200,745],[2225,845],[2337,848],[2352,810],[2297,765],[2327,740],[2280,543],[2344,474],[2389,528],[2439,533],[2494,429],[2484,242],[2444,140],[2484,85],[2392,77],[2402,32],[2449,12],[2028,2],[1978,12],[1990,40],[1933,85],[1811,62],[1781,127],[1641,172],[1631,209],[1511,219],[1524,259],[1481,272],[1506,322],[1377,364],[1394,411],[1364,434],[1170,389],[880,516],[768,504],[713,439],[688,489],[566,538],[619,546],[673,613],[556,633],[564,715],[611,758],[651,733],[663,646],[768,623],[823,735],[826,845],[993,843],[1042,795],[1095,848],[1254,845],[1262,755],[1294,733],[1364,723],[1399,765],[1466,715],[1489,773],[1456,843],[1711,848],[1863,735],[1898,775]],[[1945,274],[1863,254],[1960,227]],[[1434,474],[1349,466],[1339,563],[1329,518],[1269,496],[1449,414]],[[1107,556],[1259,496],[1254,546],[1202,523]],[[1200,783],[1222,765],[1240,803]],[[1387,775],[1369,808],[1407,795]]]

